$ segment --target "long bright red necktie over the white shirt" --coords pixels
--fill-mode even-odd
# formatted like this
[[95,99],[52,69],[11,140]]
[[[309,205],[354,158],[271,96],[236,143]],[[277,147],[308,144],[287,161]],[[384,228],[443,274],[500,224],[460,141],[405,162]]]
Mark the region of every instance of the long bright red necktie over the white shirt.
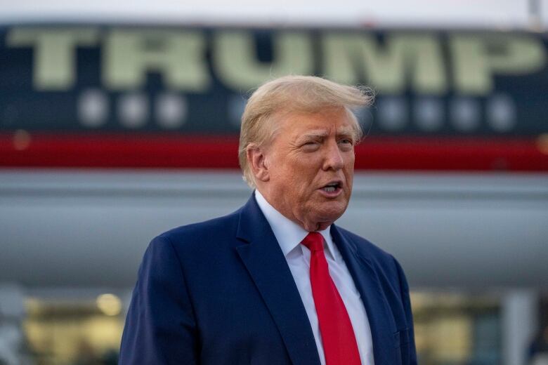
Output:
[[360,365],[360,352],[346,307],[331,279],[323,252],[323,237],[310,232],[303,239],[311,251],[310,281],[320,322],[326,365]]

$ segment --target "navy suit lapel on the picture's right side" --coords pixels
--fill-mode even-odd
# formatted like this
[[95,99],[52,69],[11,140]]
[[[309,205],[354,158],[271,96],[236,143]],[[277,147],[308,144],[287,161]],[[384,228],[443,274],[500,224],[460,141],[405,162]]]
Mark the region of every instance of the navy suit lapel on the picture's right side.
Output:
[[369,259],[358,253],[353,241],[344,237],[335,225],[331,227],[331,235],[344,258],[344,263],[352,275],[365,306],[371,327],[375,364],[398,364],[394,349],[394,331],[396,330],[393,328],[395,328],[395,324],[374,266]]

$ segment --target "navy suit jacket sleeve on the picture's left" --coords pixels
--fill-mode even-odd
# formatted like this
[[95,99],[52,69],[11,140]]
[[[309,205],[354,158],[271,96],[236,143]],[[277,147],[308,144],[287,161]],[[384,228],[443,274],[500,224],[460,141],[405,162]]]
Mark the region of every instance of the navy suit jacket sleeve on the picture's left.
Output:
[[197,364],[199,341],[190,296],[167,237],[152,239],[122,335],[119,365]]

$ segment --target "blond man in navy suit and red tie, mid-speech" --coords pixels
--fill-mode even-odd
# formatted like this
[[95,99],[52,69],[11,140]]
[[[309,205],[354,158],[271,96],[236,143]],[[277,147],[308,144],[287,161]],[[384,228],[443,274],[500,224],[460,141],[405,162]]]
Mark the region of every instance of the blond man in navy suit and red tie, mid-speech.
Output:
[[352,191],[359,88],[318,77],[259,87],[242,116],[240,210],[159,235],[119,364],[416,364],[396,260],[333,223]]

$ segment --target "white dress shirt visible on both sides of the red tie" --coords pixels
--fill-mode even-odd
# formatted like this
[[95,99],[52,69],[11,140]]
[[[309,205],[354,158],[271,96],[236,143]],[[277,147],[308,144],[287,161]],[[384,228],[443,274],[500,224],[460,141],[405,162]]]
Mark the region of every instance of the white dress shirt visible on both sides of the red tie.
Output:
[[[320,361],[322,365],[325,365],[325,355],[323,353],[320,326],[318,324],[318,314],[316,314],[310,284],[311,253],[306,246],[300,244],[308,232],[273,208],[259,190],[255,190],[255,199],[257,204],[259,204],[259,208],[261,208],[261,211],[265,215],[266,220],[268,220],[270,227],[272,227],[278,244],[280,244],[280,248],[282,248],[282,252],[285,255],[285,260],[287,260],[287,265],[289,265],[289,270],[291,270],[296,287],[301,295],[301,300],[303,300],[308,320],[312,326]],[[367,314],[365,313],[365,307],[363,306],[360,293],[355,287],[354,281],[350,272],[348,272],[348,268],[344,263],[341,253],[333,243],[330,227],[318,231],[324,238],[324,245],[327,246],[327,249],[325,249],[325,246],[324,249],[330,275],[335,286],[337,286],[337,290],[339,291],[346,311],[348,312],[348,317],[350,317],[350,321],[352,322],[362,364],[373,365],[371,328],[369,320],[367,319]]]

